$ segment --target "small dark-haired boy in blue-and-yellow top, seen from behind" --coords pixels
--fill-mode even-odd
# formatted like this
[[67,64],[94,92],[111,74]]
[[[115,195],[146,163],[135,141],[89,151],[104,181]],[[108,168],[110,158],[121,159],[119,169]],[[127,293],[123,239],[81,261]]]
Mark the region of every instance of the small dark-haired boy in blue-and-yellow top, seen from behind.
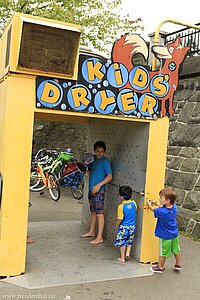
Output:
[[115,229],[118,229],[118,231],[114,244],[120,248],[118,261],[122,263],[130,260],[131,247],[136,230],[137,204],[134,200],[131,200],[132,193],[132,188],[128,185],[119,188],[119,198],[122,203],[119,204],[117,211]]

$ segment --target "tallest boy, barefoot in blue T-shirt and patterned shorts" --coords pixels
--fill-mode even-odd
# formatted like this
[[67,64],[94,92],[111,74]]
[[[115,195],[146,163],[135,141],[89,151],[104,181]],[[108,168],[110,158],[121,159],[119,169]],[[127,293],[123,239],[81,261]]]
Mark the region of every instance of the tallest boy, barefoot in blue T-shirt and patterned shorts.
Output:
[[96,159],[89,171],[89,193],[88,200],[90,205],[90,229],[81,235],[82,238],[95,237],[95,226],[98,223],[98,233],[95,239],[90,241],[92,245],[103,243],[104,229],[104,199],[106,183],[112,180],[112,169],[110,161],[104,156],[106,144],[98,141],[94,144]]

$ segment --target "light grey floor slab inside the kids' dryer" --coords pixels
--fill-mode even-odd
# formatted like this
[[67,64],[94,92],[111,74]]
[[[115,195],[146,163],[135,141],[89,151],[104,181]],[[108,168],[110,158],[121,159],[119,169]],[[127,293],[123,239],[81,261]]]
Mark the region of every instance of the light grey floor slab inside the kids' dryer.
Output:
[[28,245],[26,273],[5,280],[29,289],[150,276],[149,266],[136,261],[120,264],[116,249],[105,242],[98,247],[80,239],[80,221],[30,224],[34,245]]

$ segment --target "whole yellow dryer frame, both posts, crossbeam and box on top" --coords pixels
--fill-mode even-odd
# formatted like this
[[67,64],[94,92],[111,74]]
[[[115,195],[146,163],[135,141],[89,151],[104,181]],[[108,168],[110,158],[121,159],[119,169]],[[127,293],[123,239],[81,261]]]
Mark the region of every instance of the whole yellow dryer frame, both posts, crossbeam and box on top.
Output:
[[[49,36],[52,37],[51,44]],[[39,48],[34,44],[35,38],[38,37]],[[35,106],[36,76],[77,79],[79,38],[79,26],[15,13],[1,40],[1,276],[15,276],[25,271],[34,117],[85,123],[88,123],[90,118],[98,118],[101,121],[111,119],[113,122],[124,120],[123,116],[44,110]],[[51,57],[48,57],[49,48]],[[63,56],[66,62],[70,61],[67,69],[59,67],[59,58]],[[52,57],[54,59],[51,59]],[[127,118],[127,122],[149,124],[144,200],[149,197],[155,198],[164,186],[169,120],[167,117],[156,121]],[[154,262],[158,255],[158,241],[152,234],[155,220],[146,209],[145,201],[143,209],[139,260]]]

